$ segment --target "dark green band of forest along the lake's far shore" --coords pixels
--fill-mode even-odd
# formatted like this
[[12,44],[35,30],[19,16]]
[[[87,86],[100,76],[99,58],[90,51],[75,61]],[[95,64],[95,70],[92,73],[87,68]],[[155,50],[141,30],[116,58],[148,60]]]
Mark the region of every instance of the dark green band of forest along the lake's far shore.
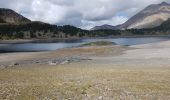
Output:
[[152,29],[128,30],[83,30],[74,26],[57,26],[41,22],[25,24],[1,24],[0,39],[32,39],[32,38],[82,38],[111,37],[131,35],[167,35],[170,34],[170,20]]

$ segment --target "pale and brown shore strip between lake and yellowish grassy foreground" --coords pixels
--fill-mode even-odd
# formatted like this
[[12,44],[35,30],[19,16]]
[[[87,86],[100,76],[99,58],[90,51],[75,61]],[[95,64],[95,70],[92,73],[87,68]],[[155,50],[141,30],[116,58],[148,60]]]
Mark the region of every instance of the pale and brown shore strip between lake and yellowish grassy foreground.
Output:
[[[91,59],[91,63],[115,65],[168,65],[170,64],[170,41],[143,45],[89,46],[61,49],[53,52],[0,54],[0,65],[47,64],[49,62],[74,62]],[[84,60],[85,61],[85,60]]]

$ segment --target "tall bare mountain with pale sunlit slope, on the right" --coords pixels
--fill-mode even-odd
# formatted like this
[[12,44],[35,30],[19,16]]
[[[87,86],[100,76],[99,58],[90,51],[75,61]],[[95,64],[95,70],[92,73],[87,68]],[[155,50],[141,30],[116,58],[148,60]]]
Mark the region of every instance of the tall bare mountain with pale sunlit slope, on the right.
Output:
[[[162,2],[160,4],[152,4],[131,17],[127,22],[118,26],[112,26],[116,29],[143,29],[154,28],[161,25],[164,21],[170,18],[170,4]],[[98,29],[104,29],[103,26],[98,26]],[[96,28],[93,28],[96,30]]]

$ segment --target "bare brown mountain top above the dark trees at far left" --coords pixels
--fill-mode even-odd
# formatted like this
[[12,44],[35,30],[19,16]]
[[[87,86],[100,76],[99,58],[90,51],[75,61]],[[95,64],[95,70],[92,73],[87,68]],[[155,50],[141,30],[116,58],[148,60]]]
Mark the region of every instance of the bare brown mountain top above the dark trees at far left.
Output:
[[24,16],[16,13],[11,9],[0,8],[0,23],[9,23],[9,24],[20,24],[31,22],[29,19]]

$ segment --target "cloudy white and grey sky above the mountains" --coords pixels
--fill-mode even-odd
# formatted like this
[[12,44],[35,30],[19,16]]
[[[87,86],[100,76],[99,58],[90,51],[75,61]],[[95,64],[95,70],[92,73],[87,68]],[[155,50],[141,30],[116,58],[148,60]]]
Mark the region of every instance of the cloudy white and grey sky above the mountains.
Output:
[[117,25],[150,4],[170,0],[0,0],[0,7],[10,8],[33,21],[57,25]]

